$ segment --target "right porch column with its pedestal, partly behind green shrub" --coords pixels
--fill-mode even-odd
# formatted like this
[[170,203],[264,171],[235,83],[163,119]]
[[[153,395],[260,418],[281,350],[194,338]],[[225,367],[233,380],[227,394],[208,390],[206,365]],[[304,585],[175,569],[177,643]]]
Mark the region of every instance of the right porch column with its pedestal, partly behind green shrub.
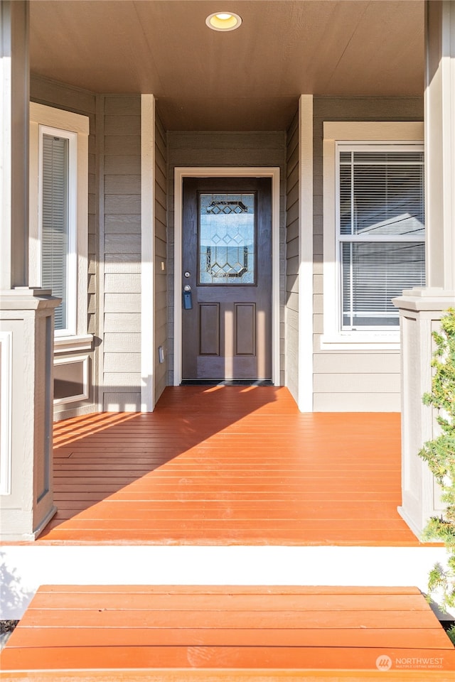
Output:
[[427,287],[403,291],[400,308],[402,353],[402,507],[417,535],[441,511],[439,489],[417,453],[432,440],[436,422],[422,394],[432,380],[432,331],[444,310],[455,305],[455,2],[426,3],[425,204]]

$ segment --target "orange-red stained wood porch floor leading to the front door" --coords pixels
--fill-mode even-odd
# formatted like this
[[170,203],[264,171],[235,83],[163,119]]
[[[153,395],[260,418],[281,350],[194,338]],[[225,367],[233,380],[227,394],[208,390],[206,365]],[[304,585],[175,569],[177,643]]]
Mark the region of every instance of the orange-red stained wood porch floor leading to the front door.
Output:
[[400,415],[299,413],[269,386],[168,387],[153,413],[55,424],[41,543],[392,545]]

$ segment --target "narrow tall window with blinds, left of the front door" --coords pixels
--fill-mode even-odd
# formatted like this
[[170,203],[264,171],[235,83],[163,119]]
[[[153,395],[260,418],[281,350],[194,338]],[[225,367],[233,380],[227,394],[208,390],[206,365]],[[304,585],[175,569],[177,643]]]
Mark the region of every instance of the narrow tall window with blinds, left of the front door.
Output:
[[69,140],[43,135],[41,209],[41,286],[62,299],[55,329],[68,327],[68,164]]

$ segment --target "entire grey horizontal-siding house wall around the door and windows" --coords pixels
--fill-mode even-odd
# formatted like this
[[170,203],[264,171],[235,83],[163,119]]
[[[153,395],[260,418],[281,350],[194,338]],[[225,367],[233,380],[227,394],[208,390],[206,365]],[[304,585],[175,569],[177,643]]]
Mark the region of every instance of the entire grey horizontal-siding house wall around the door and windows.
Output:
[[[55,417],[141,408],[141,98],[98,95],[31,78],[31,99],[90,119],[87,331],[89,397]],[[314,409],[400,409],[398,351],[321,350],[323,332],[323,122],[422,120],[419,98],[314,99]],[[166,133],[155,126],[155,399],[173,383],[173,171],[176,166],[279,166],[280,381],[298,399],[299,118],[287,134]],[[168,201],[169,200],[169,201]],[[286,210],[285,210],[286,207]],[[168,225],[166,217],[168,211]],[[285,237],[286,234],[286,237]],[[164,362],[159,362],[159,347]],[[58,352],[58,362],[77,352]],[[286,360],[285,360],[286,358]],[[305,362],[305,359],[301,359]],[[286,373],[285,373],[286,370]],[[99,386],[99,396],[97,396]]]

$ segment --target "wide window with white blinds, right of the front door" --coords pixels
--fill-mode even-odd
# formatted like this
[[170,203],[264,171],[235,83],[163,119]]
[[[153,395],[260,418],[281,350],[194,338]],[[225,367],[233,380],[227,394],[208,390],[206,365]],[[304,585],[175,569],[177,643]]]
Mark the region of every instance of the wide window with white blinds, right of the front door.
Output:
[[341,328],[399,325],[392,298],[424,286],[422,146],[338,146]]

